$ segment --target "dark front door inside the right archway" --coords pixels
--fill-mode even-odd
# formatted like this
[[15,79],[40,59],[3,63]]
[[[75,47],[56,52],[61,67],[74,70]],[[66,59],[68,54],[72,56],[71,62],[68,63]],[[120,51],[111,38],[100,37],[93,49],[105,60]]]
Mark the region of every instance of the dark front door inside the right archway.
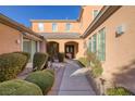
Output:
[[65,56],[68,59],[74,59],[74,46],[73,45],[65,46]]

